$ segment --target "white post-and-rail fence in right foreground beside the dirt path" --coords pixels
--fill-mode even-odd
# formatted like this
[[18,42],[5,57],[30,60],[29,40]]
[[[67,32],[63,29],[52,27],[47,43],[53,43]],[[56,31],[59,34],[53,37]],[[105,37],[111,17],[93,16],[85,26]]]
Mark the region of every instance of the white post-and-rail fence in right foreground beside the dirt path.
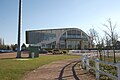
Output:
[[[92,60],[95,62],[95,67],[89,64],[89,60]],[[117,72],[118,72],[117,76],[114,76],[110,73],[100,70],[100,65],[99,65],[100,63],[117,67]],[[90,69],[93,69],[95,71],[96,80],[100,79],[100,74],[106,75],[109,78],[112,78],[114,80],[120,80],[120,63],[113,64],[113,63],[100,61],[99,59],[93,60],[91,57],[88,57],[88,55],[82,55],[82,68],[86,68],[87,71],[89,71]]]

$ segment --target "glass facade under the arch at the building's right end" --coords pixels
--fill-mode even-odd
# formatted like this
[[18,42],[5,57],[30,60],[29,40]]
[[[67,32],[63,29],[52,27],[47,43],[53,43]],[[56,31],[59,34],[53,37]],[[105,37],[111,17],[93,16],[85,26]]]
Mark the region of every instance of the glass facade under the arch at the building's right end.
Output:
[[[69,30],[60,38],[60,48],[82,49],[81,42],[88,41],[86,35],[79,30]],[[84,45],[86,48],[87,46]]]

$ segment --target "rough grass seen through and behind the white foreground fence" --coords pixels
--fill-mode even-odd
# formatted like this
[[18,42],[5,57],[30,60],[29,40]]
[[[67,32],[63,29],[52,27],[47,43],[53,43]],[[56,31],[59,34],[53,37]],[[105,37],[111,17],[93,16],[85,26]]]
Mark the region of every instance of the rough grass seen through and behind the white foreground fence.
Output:
[[[110,56],[109,58],[105,56],[105,57],[102,57],[102,59],[103,59],[103,61],[113,63],[113,56]],[[116,61],[120,62],[120,57],[119,56],[116,57]],[[90,64],[90,66],[95,67],[95,61],[90,61],[89,64]],[[115,66],[100,63],[99,67],[100,67],[101,71],[104,71],[106,73],[110,73],[114,76],[118,76],[118,71],[117,71],[118,68],[115,67]],[[95,74],[95,70],[92,69],[91,71],[93,71],[92,73]],[[103,75],[103,74],[100,74],[100,76],[101,76],[100,80],[113,80],[113,79],[108,78],[106,75]]]

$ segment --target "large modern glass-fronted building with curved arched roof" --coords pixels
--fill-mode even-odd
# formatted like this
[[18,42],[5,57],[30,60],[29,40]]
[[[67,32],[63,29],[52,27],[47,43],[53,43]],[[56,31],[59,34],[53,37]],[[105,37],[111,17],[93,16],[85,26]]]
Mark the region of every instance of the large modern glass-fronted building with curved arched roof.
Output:
[[88,49],[89,36],[78,28],[26,31],[26,44],[41,48]]

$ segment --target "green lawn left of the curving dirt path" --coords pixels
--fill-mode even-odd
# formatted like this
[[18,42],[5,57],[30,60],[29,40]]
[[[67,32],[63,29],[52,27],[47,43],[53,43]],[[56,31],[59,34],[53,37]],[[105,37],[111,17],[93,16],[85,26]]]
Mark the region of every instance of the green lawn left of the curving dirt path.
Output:
[[27,72],[42,65],[70,58],[80,57],[69,55],[49,55],[29,60],[0,59],[0,80],[22,80]]

